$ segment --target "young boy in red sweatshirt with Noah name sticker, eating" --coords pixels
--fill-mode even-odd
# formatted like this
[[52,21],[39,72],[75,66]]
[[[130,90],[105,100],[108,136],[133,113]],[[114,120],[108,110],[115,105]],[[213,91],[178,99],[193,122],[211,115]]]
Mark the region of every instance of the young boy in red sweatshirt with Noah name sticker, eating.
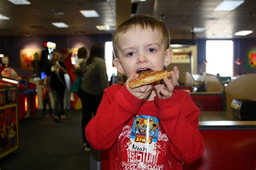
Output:
[[172,60],[170,36],[160,20],[133,16],[113,34],[114,66],[129,77],[124,86],[105,89],[97,114],[86,126],[96,150],[109,149],[110,169],[183,169],[203,155],[199,109],[185,91],[174,91],[171,79],[131,89],[142,70],[162,70]]

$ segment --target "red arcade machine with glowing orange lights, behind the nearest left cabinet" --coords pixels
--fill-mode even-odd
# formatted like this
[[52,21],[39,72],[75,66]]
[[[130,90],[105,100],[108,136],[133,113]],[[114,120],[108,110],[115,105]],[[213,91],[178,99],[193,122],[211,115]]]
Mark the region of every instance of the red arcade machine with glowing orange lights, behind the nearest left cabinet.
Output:
[[15,70],[8,66],[8,56],[4,56],[1,61],[1,80],[15,84],[18,88],[18,120],[34,115],[37,111],[36,84],[21,79]]

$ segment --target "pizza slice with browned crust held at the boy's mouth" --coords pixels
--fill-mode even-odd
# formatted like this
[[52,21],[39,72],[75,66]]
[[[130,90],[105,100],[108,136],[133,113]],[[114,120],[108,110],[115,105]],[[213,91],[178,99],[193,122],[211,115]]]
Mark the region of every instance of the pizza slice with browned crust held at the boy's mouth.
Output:
[[129,81],[129,87],[133,89],[136,87],[144,86],[146,84],[159,81],[161,79],[164,79],[164,77],[169,76],[171,76],[171,72],[169,72],[167,69],[163,69],[160,71],[147,71],[139,74],[139,77],[137,79]]

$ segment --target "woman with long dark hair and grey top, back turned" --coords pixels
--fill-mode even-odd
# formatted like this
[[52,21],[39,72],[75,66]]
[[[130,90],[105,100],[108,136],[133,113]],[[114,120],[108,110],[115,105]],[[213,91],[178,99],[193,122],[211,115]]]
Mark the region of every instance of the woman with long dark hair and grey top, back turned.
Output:
[[95,43],[91,47],[89,58],[85,58],[80,63],[82,82],[78,96],[82,101],[82,134],[85,151],[90,151],[90,145],[85,137],[85,127],[90,122],[92,114],[96,114],[103,90],[109,87],[104,52],[104,46]]

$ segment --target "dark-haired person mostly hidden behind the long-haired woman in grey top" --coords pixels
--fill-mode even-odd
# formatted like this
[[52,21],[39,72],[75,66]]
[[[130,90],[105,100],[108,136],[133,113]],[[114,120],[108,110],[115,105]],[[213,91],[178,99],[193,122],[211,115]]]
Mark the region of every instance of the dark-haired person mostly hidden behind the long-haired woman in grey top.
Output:
[[87,49],[85,47],[81,47],[78,49],[78,61],[74,65],[75,69],[78,70],[78,74],[76,77],[76,80],[72,84],[71,93],[70,93],[70,101],[75,101],[75,93],[78,93],[81,81],[82,81],[82,75],[79,73],[80,63],[87,57]]

